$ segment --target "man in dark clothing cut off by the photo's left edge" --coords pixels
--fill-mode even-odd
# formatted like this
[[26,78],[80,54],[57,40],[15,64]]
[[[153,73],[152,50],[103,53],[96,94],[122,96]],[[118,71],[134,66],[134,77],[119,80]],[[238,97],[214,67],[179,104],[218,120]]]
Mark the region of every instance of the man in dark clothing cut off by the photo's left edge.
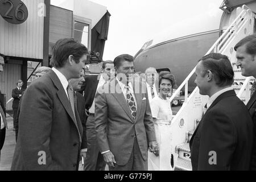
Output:
[[[0,53],[0,74],[3,72],[3,65],[5,65],[5,61],[3,59],[3,55]],[[6,121],[6,112],[5,112],[5,103],[3,94],[0,90],[0,122],[1,122],[1,129],[0,129],[0,160],[1,160],[1,150],[3,148],[3,144],[5,143],[5,133],[6,129],[8,129],[7,121]]]

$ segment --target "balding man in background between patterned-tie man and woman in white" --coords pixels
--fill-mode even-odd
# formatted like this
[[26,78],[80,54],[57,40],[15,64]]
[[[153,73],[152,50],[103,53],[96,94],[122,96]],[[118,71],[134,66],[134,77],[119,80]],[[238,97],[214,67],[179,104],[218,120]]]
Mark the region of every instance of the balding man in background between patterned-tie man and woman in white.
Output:
[[147,82],[147,96],[148,100],[151,103],[152,99],[158,96],[158,82],[156,78],[158,77],[158,72],[155,68],[147,68],[145,71],[146,82]]

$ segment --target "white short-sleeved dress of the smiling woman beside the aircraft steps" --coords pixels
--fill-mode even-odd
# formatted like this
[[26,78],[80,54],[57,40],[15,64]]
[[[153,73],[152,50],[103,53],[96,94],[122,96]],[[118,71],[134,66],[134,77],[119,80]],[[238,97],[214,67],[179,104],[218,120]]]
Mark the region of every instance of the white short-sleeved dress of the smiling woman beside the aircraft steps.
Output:
[[159,156],[148,152],[148,171],[172,171],[171,167],[171,102],[156,96],[150,102],[152,117],[156,118],[155,135],[159,146]]

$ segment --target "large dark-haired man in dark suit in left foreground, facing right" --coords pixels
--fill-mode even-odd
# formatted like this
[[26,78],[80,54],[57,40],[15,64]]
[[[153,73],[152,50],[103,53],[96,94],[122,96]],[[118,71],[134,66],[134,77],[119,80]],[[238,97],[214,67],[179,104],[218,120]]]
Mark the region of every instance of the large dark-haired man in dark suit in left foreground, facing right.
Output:
[[22,98],[19,135],[11,170],[77,170],[82,124],[68,80],[80,78],[88,49],[73,39],[52,48],[52,71]]

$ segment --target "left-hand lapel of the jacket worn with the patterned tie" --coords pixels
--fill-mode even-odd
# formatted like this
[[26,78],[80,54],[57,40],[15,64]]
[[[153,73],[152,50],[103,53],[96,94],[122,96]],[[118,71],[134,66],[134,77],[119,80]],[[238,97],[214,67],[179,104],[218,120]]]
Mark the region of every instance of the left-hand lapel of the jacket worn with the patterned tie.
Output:
[[115,86],[115,88],[110,89],[110,90],[113,90],[113,89],[115,90],[115,93],[112,93],[112,95],[115,97],[115,99],[117,100],[119,105],[121,105],[122,109],[129,116],[131,121],[134,121],[133,116],[131,115],[131,111],[129,109],[129,106],[127,104],[127,101],[125,99],[125,96],[123,96],[122,89],[121,89],[120,85],[118,84],[117,80],[114,80],[114,81],[115,81],[116,86]]

